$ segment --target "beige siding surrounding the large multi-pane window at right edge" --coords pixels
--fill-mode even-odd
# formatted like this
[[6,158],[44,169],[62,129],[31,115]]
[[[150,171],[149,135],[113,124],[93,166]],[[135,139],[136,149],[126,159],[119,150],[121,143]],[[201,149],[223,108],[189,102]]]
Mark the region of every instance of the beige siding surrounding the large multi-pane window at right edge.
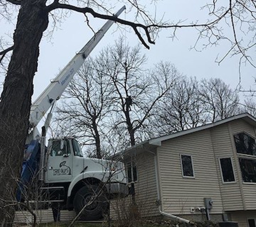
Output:
[[[248,124],[244,120],[236,120],[232,122],[231,124],[231,130],[232,130],[232,139],[233,135],[237,134],[239,132],[246,132],[250,134],[252,137],[256,137],[255,135],[255,129],[252,125]],[[234,152],[236,151],[236,147],[234,147]],[[238,174],[241,179],[241,172],[240,172],[240,166],[239,162],[237,169],[238,169]],[[241,179],[241,181],[243,181]],[[243,186],[243,194],[244,194],[244,200],[245,200],[245,205],[246,205],[246,210],[255,210],[256,209],[256,183],[242,183]]]

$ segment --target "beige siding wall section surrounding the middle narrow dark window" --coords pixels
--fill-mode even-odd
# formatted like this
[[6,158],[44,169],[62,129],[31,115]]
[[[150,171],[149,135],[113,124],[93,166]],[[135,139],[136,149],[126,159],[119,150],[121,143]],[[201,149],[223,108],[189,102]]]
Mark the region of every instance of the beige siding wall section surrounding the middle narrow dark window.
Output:
[[[216,166],[218,173],[218,181],[220,186],[220,193],[222,195],[224,211],[243,210],[243,200],[241,196],[240,186],[238,182],[238,172],[236,167],[236,160],[234,160],[233,148],[231,143],[231,136],[227,124],[213,127],[211,130],[212,145],[215,152]],[[222,173],[220,172],[219,159],[231,158],[234,177],[236,182],[223,183]]]

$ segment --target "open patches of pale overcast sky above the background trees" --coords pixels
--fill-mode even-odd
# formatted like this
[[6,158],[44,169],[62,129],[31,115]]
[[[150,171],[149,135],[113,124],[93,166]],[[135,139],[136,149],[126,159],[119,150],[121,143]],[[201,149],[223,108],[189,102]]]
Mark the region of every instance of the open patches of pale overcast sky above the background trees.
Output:
[[[156,5],[156,11],[159,15],[165,13],[165,18],[170,20],[188,19],[201,20],[205,19],[207,11],[200,10],[200,2],[202,1],[170,1],[163,0]],[[116,5],[113,12],[121,8]],[[154,8],[151,7],[154,11]],[[123,19],[133,18],[133,12],[122,13],[120,16]],[[192,18],[192,19],[190,19]],[[13,27],[9,24],[2,23],[0,36],[5,32],[12,32]],[[95,31],[105,23],[103,20],[90,18],[90,23]],[[202,52],[190,51],[190,47],[195,44],[197,32],[193,29],[182,29],[177,31],[177,38],[170,38],[170,31],[162,31],[156,39],[155,45],[150,45],[150,49],[143,48],[143,53],[147,55],[148,67],[152,67],[154,63],[159,61],[170,61],[174,63],[179,72],[188,75],[196,76],[198,80],[210,77],[219,77],[232,88],[235,88],[239,83],[238,62],[239,58],[226,58],[220,65],[215,63],[216,57],[222,56],[228,50],[227,42],[222,42],[220,46],[206,49]],[[117,25],[113,25],[106,36],[103,37],[100,44],[94,49],[91,56],[95,56],[100,50],[114,44],[114,41],[119,36],[125,36],[127,43],[130,46],[140,43],[133,31],[127,30],[124,32],[117,29]],[[38,95],[47,87],[50,80],[53,79],[59,70],[70,61],[74,54],[78,52],[86,42],[93,36],[92,31],[88,29],[85,23],[85,18],[78,13],[72,13],[61,27],[53,33],[52,39],[44,37],[40,44],[40,56],[38,72],[34,77],[34,95],[35,100]],[[200,47],[200,46],[199,46]],[[255,51],[252,53],[252,59],[255,59]],[[249,89],[253,85],[253,76],[256,76],[255,68],[250,65],[243,66],[241,70],[241,81],[245,89]],[[4,80],[3,76],[0,78]],[[253,87],[252,87],[253,88]]]

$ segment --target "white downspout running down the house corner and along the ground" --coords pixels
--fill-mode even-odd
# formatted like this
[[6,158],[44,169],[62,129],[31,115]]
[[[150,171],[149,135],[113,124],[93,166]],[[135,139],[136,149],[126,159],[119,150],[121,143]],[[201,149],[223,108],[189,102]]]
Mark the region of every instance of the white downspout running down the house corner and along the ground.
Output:
[[[155,152],[152,152],[152,151],[148,151],[148,152],[154,155],[157,200],[158,200],[158,201],[161,201],[161,197],[160,197],[160,186],[159,186],[159,181],[158,181],[158,171],[157,171],[156,153],[155,153]],[[163,216],[170,217],[170,218],[176,219],[176,220],[181,221],[181,222],[193,224],[193,222],[189,221],[188,219],[185,219],[185,218],[182,218],[182,217],[178,217],[178,216],[176,216],[176,215],[171,215],[171,214],[168,214],[167,212],[162,211],[162,209],[161,209],[161,202],[160,202],[159,205],[158,205],[158,210],[159,210],[160,214],[163,215]]]

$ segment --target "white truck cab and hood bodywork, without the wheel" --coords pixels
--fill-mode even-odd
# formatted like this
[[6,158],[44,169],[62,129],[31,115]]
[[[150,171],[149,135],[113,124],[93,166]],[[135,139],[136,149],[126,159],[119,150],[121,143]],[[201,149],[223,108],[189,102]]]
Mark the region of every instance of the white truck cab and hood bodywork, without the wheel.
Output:
[[122,162],[85,158],[74,138],[50,139],[46,160],[45,183],[74,182],[86,178],[126,183]]

